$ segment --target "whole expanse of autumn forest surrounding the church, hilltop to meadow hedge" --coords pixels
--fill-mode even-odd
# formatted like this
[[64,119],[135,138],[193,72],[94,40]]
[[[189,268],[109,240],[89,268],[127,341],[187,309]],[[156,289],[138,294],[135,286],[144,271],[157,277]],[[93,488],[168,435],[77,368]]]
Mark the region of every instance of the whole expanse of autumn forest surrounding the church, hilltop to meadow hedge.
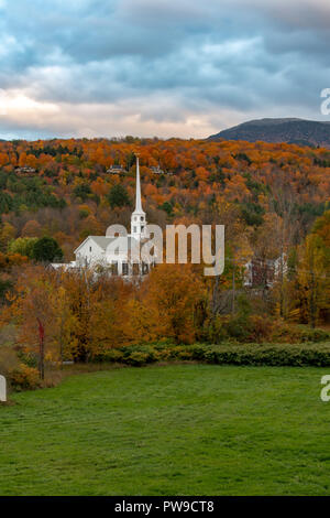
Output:
[[[164,265],[136,287],[47,268],[56,257],[74,259],[84,238],[105,235],[112,223],[129,228],[135,152],[150,223],[226,225],[223,276],[206,279],[197,266]],[[122,173],[109,172],[111,165]],[[2,323],[19,324],[19,344],[37,339],[35,315],[45,307],[53,347],[74,344],[70,354],[82,359],[95,347],[136,339],[271,339],[275,328],[279,339],[278,322],[283,330],[329,323],[327,149],[133,137],[4,141],[0,187]],[[278,258],[270,285],[267,266]],[[250,290],[249,260],[260,272]]]

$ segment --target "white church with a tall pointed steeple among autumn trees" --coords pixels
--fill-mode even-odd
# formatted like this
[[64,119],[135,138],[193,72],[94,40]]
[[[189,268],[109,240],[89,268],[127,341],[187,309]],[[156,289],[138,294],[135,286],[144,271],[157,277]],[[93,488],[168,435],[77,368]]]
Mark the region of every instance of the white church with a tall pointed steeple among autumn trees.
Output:
[[144,276],[154,266],[153,260],[150,258],[143,260],[140,255],[141,244],[147,239],[146,225],[145,212],[141,203],[140,166],[136,155],[136,194],[135,209],[131,216],[131,234],[118,234],[116,226],[109,227],[110,234],[108,229],[106,236],[88,236],[74,251],[75,261],[52,266],[65,270],[107,269],[111,274],[121,277]]

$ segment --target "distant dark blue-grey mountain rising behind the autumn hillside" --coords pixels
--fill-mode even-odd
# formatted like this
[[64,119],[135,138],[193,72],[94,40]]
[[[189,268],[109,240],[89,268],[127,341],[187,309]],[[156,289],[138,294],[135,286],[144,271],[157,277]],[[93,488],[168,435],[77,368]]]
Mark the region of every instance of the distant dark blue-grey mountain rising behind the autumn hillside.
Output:
[[304,119],[250,120],[209,137],[209,140],[220,139],[245,140],[248,142],[287,142],[330,148],[330,122]]

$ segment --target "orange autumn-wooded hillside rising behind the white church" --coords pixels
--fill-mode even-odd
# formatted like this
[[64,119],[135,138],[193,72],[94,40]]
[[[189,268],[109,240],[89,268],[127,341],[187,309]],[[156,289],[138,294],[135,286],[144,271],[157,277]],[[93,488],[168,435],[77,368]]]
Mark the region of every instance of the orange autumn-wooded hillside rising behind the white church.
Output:
[[[219,207],[230,203],[246,230],[261,229],[285,188],[304,236],[330,197],[330,151],[324,149],[210,140],[2,142],[0,251],[13,238],[48,235],[72,260],[86,236],[103,235],[111,222],[129,225],[138,149],[143,206],[148,222],[161,226],[182,218],[216,223],[222,218]],[[128,172],[107,173],[117,163]],[[164,174],[153,173],[158,164]],[[112,199],[118,185],[124,194]]]

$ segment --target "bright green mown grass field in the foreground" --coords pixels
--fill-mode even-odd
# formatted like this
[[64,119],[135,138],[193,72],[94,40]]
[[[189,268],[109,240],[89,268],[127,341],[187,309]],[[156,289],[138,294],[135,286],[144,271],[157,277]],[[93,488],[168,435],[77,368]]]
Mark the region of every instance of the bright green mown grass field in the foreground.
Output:
[[328,495],[317,368],[73,376],[0,408],[0,495]]

